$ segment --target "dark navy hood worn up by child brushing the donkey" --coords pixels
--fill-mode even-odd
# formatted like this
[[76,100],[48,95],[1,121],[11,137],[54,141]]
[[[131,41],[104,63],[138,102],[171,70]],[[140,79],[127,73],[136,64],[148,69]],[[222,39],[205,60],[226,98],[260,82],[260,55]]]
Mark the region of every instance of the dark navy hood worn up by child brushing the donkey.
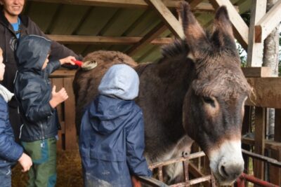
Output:
[[51,41],[48,39],[37,35],[22,36],[15,53],[18,71],[41,72],[50,50]]

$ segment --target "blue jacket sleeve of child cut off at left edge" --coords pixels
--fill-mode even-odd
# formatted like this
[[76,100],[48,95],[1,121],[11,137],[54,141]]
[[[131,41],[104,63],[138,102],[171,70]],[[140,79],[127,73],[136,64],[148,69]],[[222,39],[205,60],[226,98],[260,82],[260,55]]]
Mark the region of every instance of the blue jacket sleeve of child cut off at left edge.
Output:
[[8,120],[8,111],[4,111],[3,102],[0,104],[0,157],[10,162],[17,161],[23,153],[22,147],[15,143],[13,130]]

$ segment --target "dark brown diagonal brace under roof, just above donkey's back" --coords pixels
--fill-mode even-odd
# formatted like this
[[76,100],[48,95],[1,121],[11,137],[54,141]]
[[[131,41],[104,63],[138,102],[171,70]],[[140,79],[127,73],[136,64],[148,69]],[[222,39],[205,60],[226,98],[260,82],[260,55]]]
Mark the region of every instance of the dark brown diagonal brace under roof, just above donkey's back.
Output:
[[159,34],[162,34],[162,32],[164,32],[166,29],[167,28],[163,24],[163,22],[160,22],[154,29],[148,32],[148,34],[145,34],[141,41],[139,41],[135,46],[127,50],[126,54],[128,54],[129,56],[133,56],[139,49],[143,48],[144,46],[147,46],[150,41],[153,41],[157,36],[159,36]]

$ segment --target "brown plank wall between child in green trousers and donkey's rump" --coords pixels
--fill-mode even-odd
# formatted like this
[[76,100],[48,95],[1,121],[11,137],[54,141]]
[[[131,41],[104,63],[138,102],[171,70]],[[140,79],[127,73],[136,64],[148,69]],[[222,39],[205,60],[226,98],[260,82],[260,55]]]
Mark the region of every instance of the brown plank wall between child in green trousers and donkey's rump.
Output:
[[72,90],[72,81],[75,71],[58,70],[51,74],[51,83],[56,86],[56,91],[65,88],[69,98],[57,106],[61,130],[58,131],[58,150],[78,148],[75,128],[75,103]]

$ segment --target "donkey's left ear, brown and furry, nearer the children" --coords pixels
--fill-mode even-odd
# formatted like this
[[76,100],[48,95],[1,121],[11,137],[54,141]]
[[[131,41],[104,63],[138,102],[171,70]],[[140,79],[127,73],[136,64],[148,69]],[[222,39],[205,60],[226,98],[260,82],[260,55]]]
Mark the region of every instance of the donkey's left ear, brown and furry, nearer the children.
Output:
[[202,57],[202,54],[210,48],[206,33],[191,13],[190,5],[187,2],[181,3],[178,14],[181,16],[183,32],[192,55],[195,59]]

